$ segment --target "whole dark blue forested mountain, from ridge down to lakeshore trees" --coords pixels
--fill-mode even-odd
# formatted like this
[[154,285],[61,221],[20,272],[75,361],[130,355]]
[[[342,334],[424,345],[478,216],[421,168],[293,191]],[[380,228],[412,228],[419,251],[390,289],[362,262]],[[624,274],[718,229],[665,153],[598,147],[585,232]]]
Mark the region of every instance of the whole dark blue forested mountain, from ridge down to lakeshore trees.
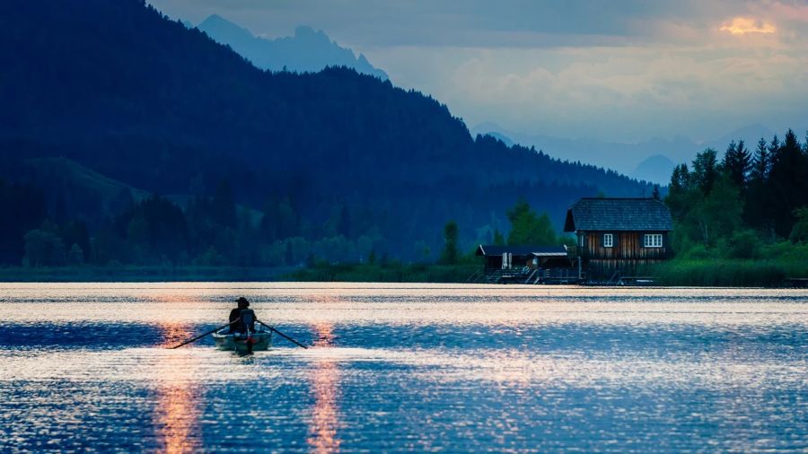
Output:
[[[433,262],[611,170],[471,136],[432,97],[347,68],[263,71],[139,0],[0,4],[7,266]],[[24,200],[24,203],[23,203]]]

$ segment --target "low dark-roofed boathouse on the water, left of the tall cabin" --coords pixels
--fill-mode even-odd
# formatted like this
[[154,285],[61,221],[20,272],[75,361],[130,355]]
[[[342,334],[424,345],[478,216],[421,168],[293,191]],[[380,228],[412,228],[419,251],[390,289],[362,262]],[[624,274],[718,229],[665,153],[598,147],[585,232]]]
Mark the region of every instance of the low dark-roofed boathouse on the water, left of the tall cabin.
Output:
[[481,244],[482,281],[496,284],[572,283],[577,268],[566,246],[500,246]]

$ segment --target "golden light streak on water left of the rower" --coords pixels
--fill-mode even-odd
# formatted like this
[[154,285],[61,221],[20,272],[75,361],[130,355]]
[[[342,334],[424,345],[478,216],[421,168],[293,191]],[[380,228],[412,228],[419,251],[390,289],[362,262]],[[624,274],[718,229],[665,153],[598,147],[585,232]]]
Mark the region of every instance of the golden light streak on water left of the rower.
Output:
[[[162,348],[177,345],[189,337],[191,327],[182,323],[162,323]],[[195,362],[181,350],[168,350],[157,377],[157,407],[154,428],[162,452],[178,454],[198,451],[198,395],[194,389]]]

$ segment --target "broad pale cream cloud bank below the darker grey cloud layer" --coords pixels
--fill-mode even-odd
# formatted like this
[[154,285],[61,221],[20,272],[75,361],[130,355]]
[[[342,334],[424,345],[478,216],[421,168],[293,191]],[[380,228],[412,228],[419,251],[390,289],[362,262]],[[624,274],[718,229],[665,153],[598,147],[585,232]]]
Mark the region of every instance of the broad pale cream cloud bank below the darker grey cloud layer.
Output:
[[[391,48],[393,81],[440,93],[471,126],[637,142],[804,127],[808,56],[774,48]],[[437,81],[437,82],[435,82]]]

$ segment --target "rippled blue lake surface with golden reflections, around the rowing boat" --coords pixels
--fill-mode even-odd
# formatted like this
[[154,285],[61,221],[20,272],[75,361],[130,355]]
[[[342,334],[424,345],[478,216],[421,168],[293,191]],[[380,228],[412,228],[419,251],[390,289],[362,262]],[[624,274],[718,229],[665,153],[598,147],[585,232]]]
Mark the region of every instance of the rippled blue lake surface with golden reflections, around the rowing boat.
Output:
[[808,291],[0,284],[14,450],[805,452]]

